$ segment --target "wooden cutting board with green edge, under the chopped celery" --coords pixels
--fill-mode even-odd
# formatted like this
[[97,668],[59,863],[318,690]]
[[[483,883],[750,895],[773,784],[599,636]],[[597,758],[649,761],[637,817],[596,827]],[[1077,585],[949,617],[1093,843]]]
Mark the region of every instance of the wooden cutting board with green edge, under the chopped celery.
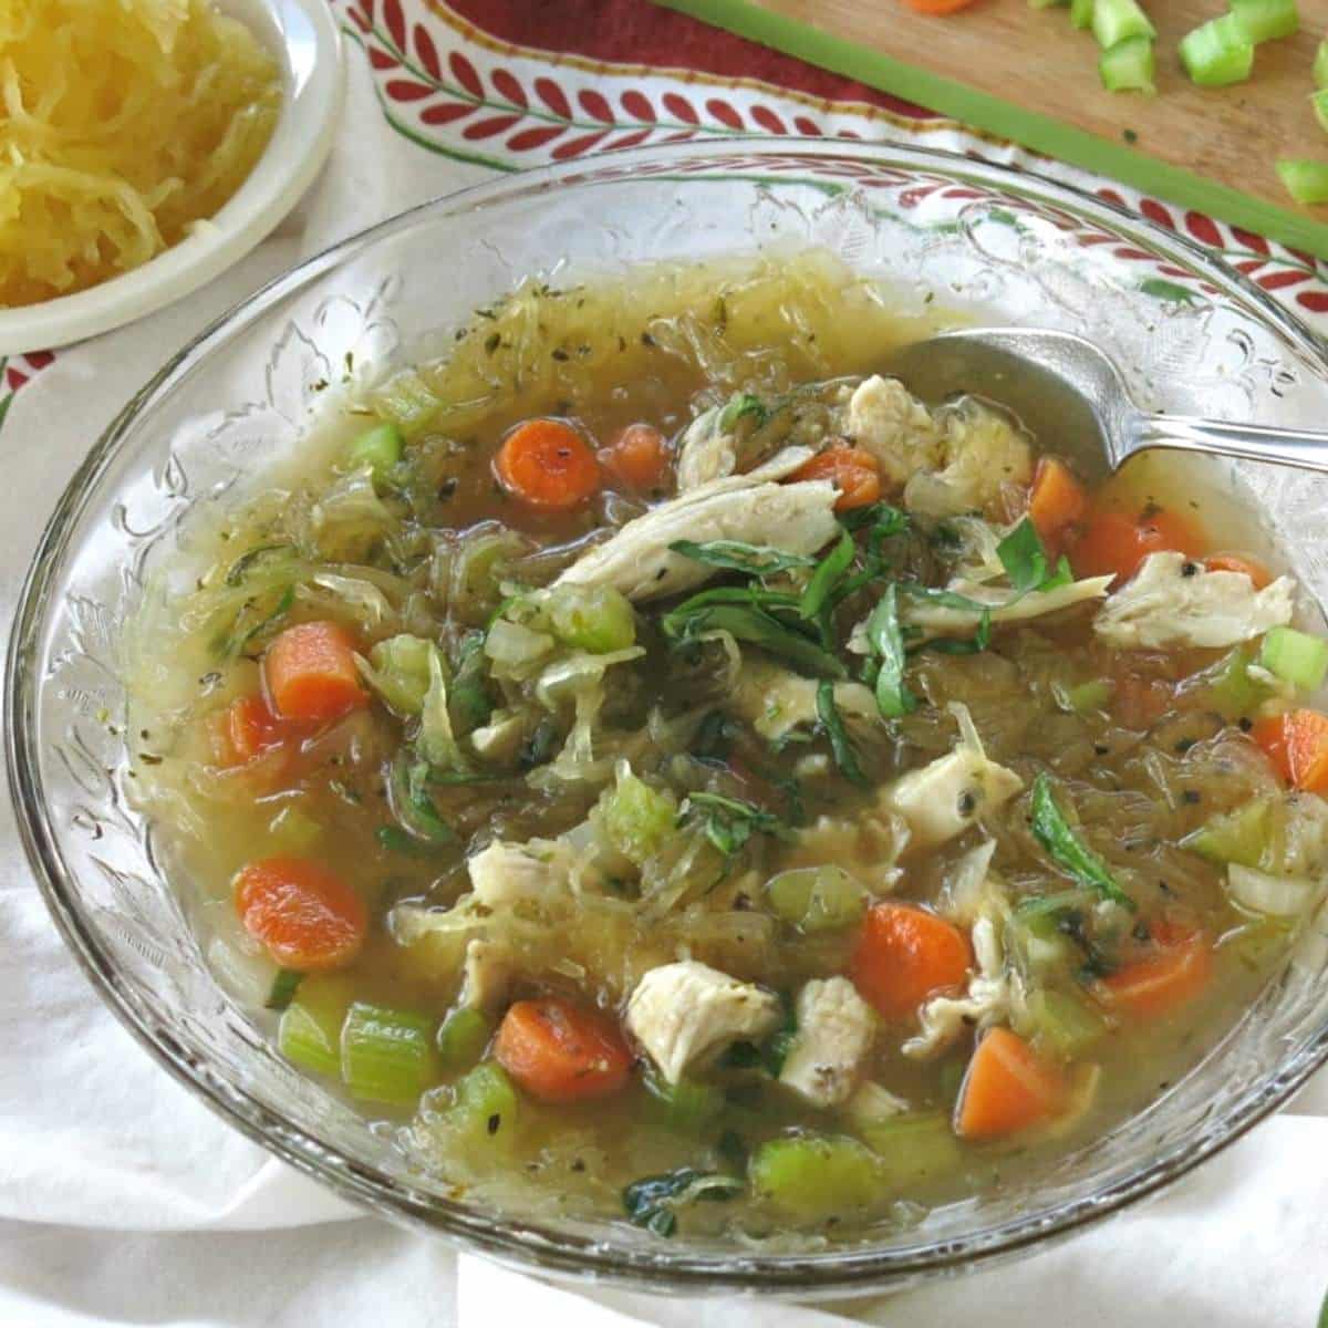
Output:
[[1179,39],[1223,0],[1145,0],[1158,29],[1158,96],[1109,93],[1097,42],[1061,8],[981,0],[928,17],[900,0],[663,0],[744,37],[919,102],[1060,161],[1328,258],[1328,206],[1293,203],[1279,157],[1328,162],[1309,106],[1328,0],[1300,0],[1301,31],[1259,46],[1250,82],[1195,88]]

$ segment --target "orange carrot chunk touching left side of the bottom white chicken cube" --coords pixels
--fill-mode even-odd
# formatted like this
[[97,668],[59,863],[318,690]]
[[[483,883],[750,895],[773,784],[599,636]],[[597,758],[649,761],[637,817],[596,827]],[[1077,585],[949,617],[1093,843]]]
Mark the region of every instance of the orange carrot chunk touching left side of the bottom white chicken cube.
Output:
[[627,1085],[632,1053],[612,1020],[548,996],[517,1001],[494,1040],[498,1064],[531,1097],[580,1102]]

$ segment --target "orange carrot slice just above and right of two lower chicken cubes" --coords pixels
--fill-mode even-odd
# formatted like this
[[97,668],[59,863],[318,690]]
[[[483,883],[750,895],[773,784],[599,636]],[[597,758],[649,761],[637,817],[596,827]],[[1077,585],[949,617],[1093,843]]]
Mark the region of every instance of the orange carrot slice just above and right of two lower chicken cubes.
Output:
[[972,964],[968,938],[911,904],[879,903],[863,919],[849,976],[886,1019],[908,1019],[935,991],[957,987]]

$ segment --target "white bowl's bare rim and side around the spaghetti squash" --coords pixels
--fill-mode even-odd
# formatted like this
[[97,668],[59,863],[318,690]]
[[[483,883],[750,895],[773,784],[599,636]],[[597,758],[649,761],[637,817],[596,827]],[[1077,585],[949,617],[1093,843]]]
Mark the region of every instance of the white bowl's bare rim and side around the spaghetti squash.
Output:
[[248,179],[195,232],[142,267],[74,295],[0,308],[0,355],[68,345],[198,290],[243,258],[313,182],[341,108],[341,33],[327,0],[219,0],[282,65],[282,116]]

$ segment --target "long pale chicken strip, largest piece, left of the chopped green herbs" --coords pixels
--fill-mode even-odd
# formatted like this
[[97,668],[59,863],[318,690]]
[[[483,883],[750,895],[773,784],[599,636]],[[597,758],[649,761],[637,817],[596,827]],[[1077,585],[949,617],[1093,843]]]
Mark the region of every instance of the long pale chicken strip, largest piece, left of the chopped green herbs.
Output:
[[612,539],[578,558],[556,584],[612,586],[631,600],[677,595],[714,574],[675,554],[680,539],[737,539],[789,554],[814,554],[839,533],[838,490],[829,481],[778,483],[809,457],[788,448],[745,475],[714,479],[629,521]]

